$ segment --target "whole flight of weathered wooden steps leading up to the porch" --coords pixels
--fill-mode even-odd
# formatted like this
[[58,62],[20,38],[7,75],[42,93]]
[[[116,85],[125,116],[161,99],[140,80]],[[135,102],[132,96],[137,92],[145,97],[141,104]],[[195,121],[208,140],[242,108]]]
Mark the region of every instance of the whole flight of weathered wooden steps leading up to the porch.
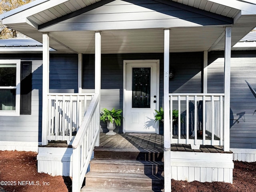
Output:
[[136,148],[94,148],[81,192],[162,192],[163,153]]

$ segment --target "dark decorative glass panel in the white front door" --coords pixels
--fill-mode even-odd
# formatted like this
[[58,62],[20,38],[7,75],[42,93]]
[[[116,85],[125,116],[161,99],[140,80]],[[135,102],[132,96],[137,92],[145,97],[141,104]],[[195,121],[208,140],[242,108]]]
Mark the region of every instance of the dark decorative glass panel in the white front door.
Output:
[[132,68],[132,108],[150,108],[150,67]]

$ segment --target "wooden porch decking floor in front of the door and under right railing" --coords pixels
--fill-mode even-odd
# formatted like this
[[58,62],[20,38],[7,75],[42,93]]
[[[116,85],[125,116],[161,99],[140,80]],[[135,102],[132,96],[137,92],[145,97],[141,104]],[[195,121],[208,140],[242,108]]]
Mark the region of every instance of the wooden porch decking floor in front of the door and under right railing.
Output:
[[[145,133],[125,133],[116,135],[106,135],[100,133],[100,146],[104,148],[133,148],[138,150],[148,150],[155,152],[164,151],[164,135]],[[222,146],[200,146],[199,150],[191,149],[190,145],[172,144],[172,151],[205,152],[205,153],[232,153],[224,152]]]

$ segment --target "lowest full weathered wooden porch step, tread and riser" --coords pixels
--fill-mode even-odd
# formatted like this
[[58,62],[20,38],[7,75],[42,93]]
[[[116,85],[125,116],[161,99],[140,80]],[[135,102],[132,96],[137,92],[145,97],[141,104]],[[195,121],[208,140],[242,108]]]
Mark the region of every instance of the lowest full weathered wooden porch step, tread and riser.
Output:
[[132,188],[137,190],[161,190],[163,177],[132,173],[89,172],[86,174],[86,186],[108,188]]

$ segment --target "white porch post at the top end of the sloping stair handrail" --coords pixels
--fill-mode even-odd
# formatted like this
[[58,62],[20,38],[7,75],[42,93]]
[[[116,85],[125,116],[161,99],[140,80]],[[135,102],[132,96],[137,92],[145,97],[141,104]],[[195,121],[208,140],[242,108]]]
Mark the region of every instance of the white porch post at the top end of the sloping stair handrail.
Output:
[[[101,34],[100,31],[95,32],[95,93],[99,94],[100,102],[100,88],[101,88]],[[100,108],[98,111],[99,120],[97,127],[100,129]],[[100,145],[100,131],[96,141],[96,146]]]

